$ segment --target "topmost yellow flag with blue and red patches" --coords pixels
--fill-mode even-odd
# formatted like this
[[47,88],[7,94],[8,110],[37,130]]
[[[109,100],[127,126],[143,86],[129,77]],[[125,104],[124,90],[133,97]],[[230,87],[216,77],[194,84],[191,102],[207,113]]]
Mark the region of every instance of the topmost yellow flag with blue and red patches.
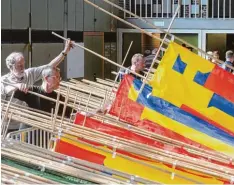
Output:
[[234,135],[234,76],[171,43],[151,81],[152,95],[213,121]]

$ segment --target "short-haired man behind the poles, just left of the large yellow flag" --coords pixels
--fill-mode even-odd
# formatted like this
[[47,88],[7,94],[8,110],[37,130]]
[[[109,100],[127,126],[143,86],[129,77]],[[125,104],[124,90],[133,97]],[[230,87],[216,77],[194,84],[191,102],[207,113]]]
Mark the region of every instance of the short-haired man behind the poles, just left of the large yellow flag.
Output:
[[[142,54],[137,53],[135,55],[132,56],[131,59],[131,63],[132,65],[130,67],[128,67],[128,69],[144,76],[143,70],[145,68],[145,58]],[[133,77],[140,79],[140,77],[132,74],[129,70],[120,70],[120,80],[123,79],[123,75],[125,74],[131,74]]]

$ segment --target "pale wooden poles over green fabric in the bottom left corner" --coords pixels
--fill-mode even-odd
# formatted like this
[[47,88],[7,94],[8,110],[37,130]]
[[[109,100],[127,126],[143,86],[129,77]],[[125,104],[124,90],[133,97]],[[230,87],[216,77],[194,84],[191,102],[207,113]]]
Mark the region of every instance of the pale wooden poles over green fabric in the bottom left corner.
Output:
[[[130,174],[122,173],[88,161],[72,158],[13,139],[2,142],[2,181],[22,181],[30,183],[55,184],[72,182],[76,184],[123,184],[131,179]],[[26,167],[39,172],[32,172]],[[42,173],[44,172],[44,174]],[[113,174],[110,176],[109,174]],[[56,177],[51,176],[54,174]],[[61,176],[63,181],[61,180]],[[40,177],[41,176],[41,177]],[[58,178],[60,176],[60,179]],[[53,180],[51,180],[53,179]],[[6,182],[7,182],[6,181]],[[142,178],[137,183],[152,183]],[[72,183],[72,184],[73,184]]]

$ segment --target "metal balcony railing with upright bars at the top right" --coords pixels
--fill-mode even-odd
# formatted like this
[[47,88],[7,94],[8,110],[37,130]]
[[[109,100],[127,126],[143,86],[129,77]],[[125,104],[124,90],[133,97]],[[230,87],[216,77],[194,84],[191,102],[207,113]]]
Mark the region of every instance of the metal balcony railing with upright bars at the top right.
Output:
[[[233,0],[119,0],[119,4],[142,18],[171,18],[179,1],[181,9],[178,18],[234,18]],[[131,17],[124,14],[124,18]]]

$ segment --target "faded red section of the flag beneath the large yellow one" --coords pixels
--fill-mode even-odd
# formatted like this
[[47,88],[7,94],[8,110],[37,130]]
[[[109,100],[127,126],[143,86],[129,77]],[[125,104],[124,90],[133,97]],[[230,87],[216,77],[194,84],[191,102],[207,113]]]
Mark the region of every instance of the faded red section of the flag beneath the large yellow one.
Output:
[[[165,136],[165,138],[171,138],[173,140],[181,141],[181,143],[190,144],[196,147],[209,149],[204,145],[192,141],[177,132],[167,129],[155,121],[150,121],[147,118],[141,119],[141,115],[144,111],[144,105],[130,99],[133,96],[131,86],[134,82],[134,78],[130,75],[126,75],[119,85],[118,91],[116,93],[115,101],[113,102],[110,114],[117,116],[120,120],[124,120],[134,126],[140,127],[142,129],[154,132],[155,134]],[[135,93],[137,96],[137,94]]]

